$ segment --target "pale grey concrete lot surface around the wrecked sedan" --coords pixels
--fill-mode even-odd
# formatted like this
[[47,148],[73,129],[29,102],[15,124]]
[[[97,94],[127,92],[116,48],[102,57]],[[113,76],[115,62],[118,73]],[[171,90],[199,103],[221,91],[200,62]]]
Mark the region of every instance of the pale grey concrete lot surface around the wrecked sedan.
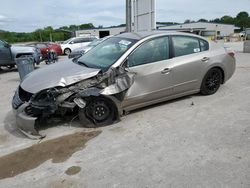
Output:
[[[34,147],[21,150],[39,141],[26,138],[15,127],[11,98],[19,81],[17,72],[0,72],[0,156],[16,151],[12,160],[0,158],[0,174],[3,168],[11,170],[1,160],[13,162],[9,168],[15,160],[25,161],[22,170],[11,171],[20,170],[18,175],[0,179],[0,187],[249,188],[250,54],[237,53],[236,58],[235,75],[215,95],[193,95],[137,110],[81,140],[89,140],[86,147],[83,143],[70,154],[55,145],[50,148],[46,140],[94,131],[81,128],[77,120],[43,130],[44,153]],[[76,137],[58,143],[66,147]],[[53,150],[63,160],[46,155]],[[32,156],[34,161],[42,159],[34,164]]]

